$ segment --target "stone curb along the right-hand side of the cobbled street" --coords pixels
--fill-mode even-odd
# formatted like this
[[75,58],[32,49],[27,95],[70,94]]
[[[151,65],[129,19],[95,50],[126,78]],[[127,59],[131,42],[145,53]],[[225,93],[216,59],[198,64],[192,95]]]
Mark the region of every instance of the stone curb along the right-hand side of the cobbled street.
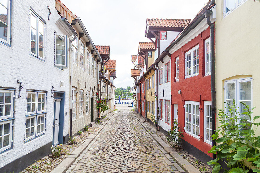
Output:
[[[134,114],[133,110],[131,110]],[[134,114],[136,117],[136,115]],[[186,173],[201,173],[197,168],[191,165],[186,159],[182,158],[176,151],[174,151],[164,140],[162,140],[157,134],[151,132],[143,123],[136,117],[136,119],[142,124],[145,130],[154,138],[154,140],[161,145],[161,147],[180,165]]]

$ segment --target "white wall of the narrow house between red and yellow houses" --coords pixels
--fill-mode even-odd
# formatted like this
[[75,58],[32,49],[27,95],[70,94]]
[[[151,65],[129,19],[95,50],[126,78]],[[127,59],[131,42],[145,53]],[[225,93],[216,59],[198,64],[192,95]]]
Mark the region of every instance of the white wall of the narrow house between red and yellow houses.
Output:
[[[168,36],[167,36],[167,39],[168,39]],[[163,61],[164,61],[164,63],[162,63],[162,62],[158,63],[159,69],[162,66],[164,67],[164,64],[170,61],[170,57],[165,56],[165,58],[163,58]],[[158,70],[158,73],[159,73],[159,70]],[[159,126],[162,127],[164,130],[168,131],[168,130],[170,130],[171,126],[169,124],[165,123],[165,100],[171,101],[171,80],[170,80],[170,82],[165,83],[164,82],[164,79],[165,79],[164,74],[165,74],[165,69],[163,70],[163,84],[158,86],[158,92],[159,92],[158,99],[163,100],[163,102],[162,102],[162,104],[163,104],[162,105],[163,106],[162,107],[163,121],[159,119]],[[159,78],[159,74],[158,74],[158,78]],[[158,84],[159,84],[159,81],[158,81]],[[163,92],[164,92],[164,94],[163,94]],[[158,103],[158,107],[160,108],[160,102]],[[171,123],[172,123],[172,121],[171,121]]]

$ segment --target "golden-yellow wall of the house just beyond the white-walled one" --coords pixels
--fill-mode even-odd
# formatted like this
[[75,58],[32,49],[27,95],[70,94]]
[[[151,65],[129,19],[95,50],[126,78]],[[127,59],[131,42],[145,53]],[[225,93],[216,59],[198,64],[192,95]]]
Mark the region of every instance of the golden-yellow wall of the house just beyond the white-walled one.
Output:
[[[154,55],[154,54],[153,54]],[[156,89],[156,79],[155,79],[155,73],[154,73],[154,70],[151,70],[151,73],[149,73],[149,75],[146,75],[146,79],[152,77],[152,75],[154,75],[154,88],[151,88],[151,89],[148,89],[147,90],[147,85],[146,85],[146,103],[147,101],[152,101],[154,102],[154,113],[156,114],[156,99],[154,97],[154,92],[155,92],[155,89]],[[152,92],[152,95],[151,95],[151,92]],[[149,95],[148,95],[149,93]],[[146,107],[147,108],[147,107]],[[150,109],[150,106],[149,106],[149,109]],[[146,109],[147,110],[147,109]],[[151,118],[151,113],[150,112],[147,112],[147,118],[150,119],[152,121],[152,118]]]

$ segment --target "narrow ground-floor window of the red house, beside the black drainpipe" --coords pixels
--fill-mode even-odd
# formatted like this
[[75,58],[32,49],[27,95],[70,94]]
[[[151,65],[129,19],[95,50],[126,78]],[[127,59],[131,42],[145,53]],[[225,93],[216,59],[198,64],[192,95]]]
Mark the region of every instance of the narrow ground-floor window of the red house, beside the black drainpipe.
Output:
[[212,145],[211,102],[204,102],[204,141]]

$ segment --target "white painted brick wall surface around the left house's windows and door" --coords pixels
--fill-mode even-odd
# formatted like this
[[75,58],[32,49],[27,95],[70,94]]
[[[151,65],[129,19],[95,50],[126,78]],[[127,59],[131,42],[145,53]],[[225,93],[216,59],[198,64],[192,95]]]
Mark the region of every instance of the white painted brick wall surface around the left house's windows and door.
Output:
[[[53,97],[50,96],[51,86],[54,86],[54,90],[65,92],[64,112],[69,112],[69,69],[60,70],[54,66],[54,30],[59,30],[55,24],[54,2],[53,0],[12,1],[11,47],[0,43],[0,87],[16,88],[14,142],[11,150],[0,155],[0,167],[52,141]],[[30,6],[46,21],[46,62],[29,54]],[[48,20],[47,6],[52,12],[50,20]],[[22,82],[23,86],[20,93],[21,98],[18,98],[17,79]],[[64,86],[60,86],[60,81],[64,82]],[[24,143],[27,89],[47,91],[46,134]],[[68,115],[64,115],[64,136],[68,134],[68,117]]]

